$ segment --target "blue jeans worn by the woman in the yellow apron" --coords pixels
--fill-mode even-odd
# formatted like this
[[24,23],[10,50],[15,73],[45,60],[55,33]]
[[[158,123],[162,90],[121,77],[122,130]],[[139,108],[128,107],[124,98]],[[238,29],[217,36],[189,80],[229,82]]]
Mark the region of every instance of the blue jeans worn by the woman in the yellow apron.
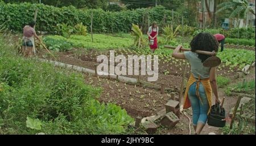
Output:
[[207,95],[205,94],[204,86],[200,82],[199,84],[199,94],[201,101],[199,97],[196,95],[196,82],[194,82],[190,87],[188,91],[188,98],[191,102],[192,106],[192,112],[193,112],[193,125],[196,126],[197,123],[203,123],[205,124],[207,122],[208,117],[208,110],[209,110],[209,102],[207,99]]

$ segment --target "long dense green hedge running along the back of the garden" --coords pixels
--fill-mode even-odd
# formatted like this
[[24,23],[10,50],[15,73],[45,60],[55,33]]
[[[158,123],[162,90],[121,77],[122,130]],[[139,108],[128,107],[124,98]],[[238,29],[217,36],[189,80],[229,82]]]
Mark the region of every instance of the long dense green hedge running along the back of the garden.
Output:
[[[45,31],[49,34],[55,34],[56,24],[67,24],[75,26],[77,23],[83,23],[84,26],[90,26],[90,17],[93,12],[93,32],[130,32],[131,24],[142,26],[143,16],[148,13],[150,20],[161,22],[164,15],[169,16],[166,22],[170,22],[171,11],[164,9],[163,6],[152,9],[137,9],[120,12],[110,12],[101,9],[80,10],[75,7],[53,7],[43,4],[31,3],[0,3],[0,24],[7,22],[7,28],[14,32],[22,32],[22,28],[28,23],[26,20],[34,18],[34,12],[38,8],[36,20],[36,30]],[[180,15],[175,12],[175,23],[179,24]],[[176,26],[176,24],[175,24]]]

